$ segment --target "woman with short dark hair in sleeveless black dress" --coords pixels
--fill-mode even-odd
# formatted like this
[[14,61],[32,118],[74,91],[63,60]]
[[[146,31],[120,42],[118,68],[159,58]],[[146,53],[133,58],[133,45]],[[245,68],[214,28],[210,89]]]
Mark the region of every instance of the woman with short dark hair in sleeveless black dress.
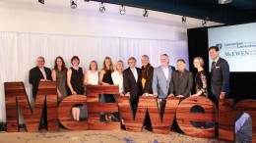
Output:
[[[67,82],[72,95],[83,95],[83,80],[84,73],[79,67],[80,60],[77,56],[71,59],[72,67],[67,72]],[[82,104],[77,104],[72,108],[72,116],[74,119],[79,120],[80,107]]]

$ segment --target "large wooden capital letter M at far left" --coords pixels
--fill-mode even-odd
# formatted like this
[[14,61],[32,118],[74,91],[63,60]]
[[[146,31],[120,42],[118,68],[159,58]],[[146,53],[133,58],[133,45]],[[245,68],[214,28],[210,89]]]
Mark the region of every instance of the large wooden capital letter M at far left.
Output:
[[[32,106],[29,102],[23,82],[5,82],[7,131],[18,131],[17,102],[23,114],[28,131],[38,131],[45,98],[47,102],[47,129],[58,129],[57,119],[57,89],[55,82],[40,82]],[[46,106],[46,105],[45,105]]]

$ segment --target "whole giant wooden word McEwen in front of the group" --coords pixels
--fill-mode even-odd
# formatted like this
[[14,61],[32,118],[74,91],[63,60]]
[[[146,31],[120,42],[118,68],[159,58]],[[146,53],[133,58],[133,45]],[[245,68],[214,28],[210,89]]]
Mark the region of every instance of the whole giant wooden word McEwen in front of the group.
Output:
[[[120,122],[104,122],[99,120],[100,112],[120,112],[126,130],[141,131],[148,109],[152,122],[153,132],[168,134],[174,117],[182,131],[194,137],[215,137],[215,127],[201,129],[194,127],[191,121],[219,122],[219,138],[234,140],[234,122],[238,114],[247,113],[252,119],[252,141],[256,142],[256,101],[243,100],[233,105],[230,99],[220,100],[219,113],[215,104],[208,98],[197,96],[183,101],[169,97],[162,119],[155,97],[140,97],[136,116],[130,108],[129,97],[118,96],[118,85],[89,85],[87,96],[68,96],[57,105],[55,82],[40,82],[32,106],[29,102],[23,82],[5,82],[5,100],[7,115],[7,131],[19,131],[18,105],[23,114],[28,131],[38,131],[44,103],[47,107],[47,129],[53,131],[59,128],[58,121],[72,130],[120,130]],[[99,103],[99,94],[116,94],[117,103]],[[46,102],[45,102],[46,100]],[[87,104],[88,120],[72,119],[71,108],[75,104]],[[205,113],[190,113],[194,106],[200,106]]]

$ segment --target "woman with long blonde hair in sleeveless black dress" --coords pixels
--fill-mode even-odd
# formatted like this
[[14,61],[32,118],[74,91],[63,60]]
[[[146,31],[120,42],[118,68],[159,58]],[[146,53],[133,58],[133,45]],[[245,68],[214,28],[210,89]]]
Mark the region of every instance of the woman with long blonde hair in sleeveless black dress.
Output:
[[[113,72],[113,64],[110,57],[105,57],[102,69],[99,71],[99,79],[98,82],[101,85],[111,85],[113,84],[113,80],[111,77],[111,73]],[[112,94],[104,94],[105,103],[113,103],[114,97]],[[106,113],[105,119],[111,121],[111,114]]]

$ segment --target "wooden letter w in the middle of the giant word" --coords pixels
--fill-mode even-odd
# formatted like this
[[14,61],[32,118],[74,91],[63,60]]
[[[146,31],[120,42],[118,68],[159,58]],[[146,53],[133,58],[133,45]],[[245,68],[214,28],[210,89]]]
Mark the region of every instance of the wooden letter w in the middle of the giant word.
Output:
[[148,109],[152,122],[153,132],[160,134],[169,133],[172,121],[175,116],[176,108],[179,103],[179,99],[177,98],[167,98],[163,118],[161,120],[156,97],[141,96],[136,111],[136,117],[134,119],[129,103],[129,97],[119,96],[116,97],[116,99],[118,101],[121,117],[124,119],[126,130],[142,131],[143,122],[146,116],[146,111]]

